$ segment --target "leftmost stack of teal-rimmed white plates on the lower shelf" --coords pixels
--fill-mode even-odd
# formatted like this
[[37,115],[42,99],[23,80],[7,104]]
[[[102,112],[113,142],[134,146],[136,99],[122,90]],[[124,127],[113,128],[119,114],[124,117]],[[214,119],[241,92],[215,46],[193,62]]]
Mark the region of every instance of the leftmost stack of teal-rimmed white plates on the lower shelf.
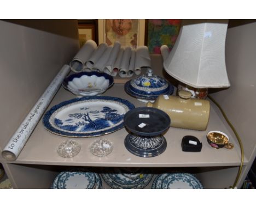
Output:
[[97,189],[102,187],[100,175],[93,172],[76,170],[71,172],[61,172],[54,179],[51,188],[58,189]]

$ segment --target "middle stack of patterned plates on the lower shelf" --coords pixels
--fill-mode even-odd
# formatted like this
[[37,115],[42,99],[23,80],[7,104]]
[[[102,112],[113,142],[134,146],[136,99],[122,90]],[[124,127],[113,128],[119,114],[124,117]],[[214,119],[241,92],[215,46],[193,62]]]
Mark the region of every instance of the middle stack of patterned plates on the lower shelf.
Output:
[[115,169],[114,173],[101,174],[103,180],[110,188],[145,188],[153,178],[144,169],[137,170],[135,173]]

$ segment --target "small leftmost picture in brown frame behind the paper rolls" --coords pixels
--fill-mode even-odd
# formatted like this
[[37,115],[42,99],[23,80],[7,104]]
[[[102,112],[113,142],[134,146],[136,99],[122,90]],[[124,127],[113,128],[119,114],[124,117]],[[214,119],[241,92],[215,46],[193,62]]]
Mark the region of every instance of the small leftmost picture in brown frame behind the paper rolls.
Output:
[[78,20],[79,44],[82,47],[87,40],[97,43],[97,20]]

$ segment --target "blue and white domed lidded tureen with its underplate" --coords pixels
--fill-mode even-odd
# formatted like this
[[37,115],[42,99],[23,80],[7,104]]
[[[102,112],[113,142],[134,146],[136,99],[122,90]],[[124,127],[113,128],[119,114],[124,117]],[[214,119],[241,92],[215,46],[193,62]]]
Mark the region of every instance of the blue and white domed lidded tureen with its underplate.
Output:
[[142,99],[156,99],[159,95],[173,93],[173,85],[165,78],[153,75],[152,69],[149,69],[146,74],[128,81],[125,88],[128,94]]

